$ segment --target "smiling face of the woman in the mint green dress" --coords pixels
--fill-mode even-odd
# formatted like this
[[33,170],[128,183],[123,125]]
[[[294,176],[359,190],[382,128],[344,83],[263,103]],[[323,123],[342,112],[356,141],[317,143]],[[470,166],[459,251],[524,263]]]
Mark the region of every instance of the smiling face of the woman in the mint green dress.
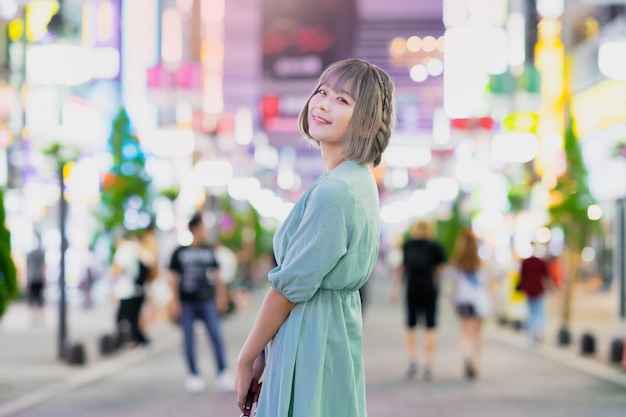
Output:
[[349,83],[341,91],[321,85],[309,101],[309,135],[320,144],[343,144],[354,112],[354,98],[348,94]]

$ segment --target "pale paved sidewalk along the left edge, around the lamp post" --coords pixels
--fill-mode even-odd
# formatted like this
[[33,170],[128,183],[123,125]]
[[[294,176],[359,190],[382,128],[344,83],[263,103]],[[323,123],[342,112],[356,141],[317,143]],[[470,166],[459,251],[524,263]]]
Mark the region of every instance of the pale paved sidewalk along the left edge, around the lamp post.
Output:
[[[3,413],[7,403],[19,409],[45,401],[146,356],[139,350],[100,354],[100,337],[115,329],[115,305],[102,303],[88,310],[71,305],[67,309],[68,340],[83,344],[86,363],[68,365],[58,358],[58,317],[58,306],[48,304],[44,323],[35,326],[27,305],[20,301],[11,304],[0,321],[0,416],[8,415]],[[171,348],[179,340],[176,332],[174,325],[155,323],[150,329],[151,351]]]

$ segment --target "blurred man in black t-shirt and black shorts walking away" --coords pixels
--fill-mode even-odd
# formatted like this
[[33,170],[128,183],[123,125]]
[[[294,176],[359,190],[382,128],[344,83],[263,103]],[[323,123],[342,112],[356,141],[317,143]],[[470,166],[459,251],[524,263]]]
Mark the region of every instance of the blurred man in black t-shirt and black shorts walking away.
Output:
[[443,247],[431,237],[426,221],[411,225],[409,238],[402,245],[402,263],[395,272],[390,299],[395,302],[404,285],[405,332],[404,344],[409,361],[407,378],[418,370],[417,324],[423,320],[425,380],[433,377],[433,362],[437,347],[438,278],[446,263]]

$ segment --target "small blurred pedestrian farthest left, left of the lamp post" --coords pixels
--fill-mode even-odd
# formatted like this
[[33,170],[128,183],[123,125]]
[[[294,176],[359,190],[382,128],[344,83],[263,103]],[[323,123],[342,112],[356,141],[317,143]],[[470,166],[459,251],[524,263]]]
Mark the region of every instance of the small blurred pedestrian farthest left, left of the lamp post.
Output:
[[35,247],[26,255],[26,285],[31,322],[36,326],[43,323],[46,287],[46,255],[39,235],[35,235]]

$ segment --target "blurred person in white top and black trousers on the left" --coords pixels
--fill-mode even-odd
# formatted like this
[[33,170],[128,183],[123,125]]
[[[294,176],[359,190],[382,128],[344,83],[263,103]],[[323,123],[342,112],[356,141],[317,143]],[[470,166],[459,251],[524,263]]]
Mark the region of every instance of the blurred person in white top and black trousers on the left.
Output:
[[118,349],[126,343],[144,348],[150,344],[140,326],[139,318],[145,300],[149,270],[156,260],[142,248],[140,244],[142,235],[143,232],[138,236],[126,231],[113,255],[111,275],[114,279],[114,296],[118,301],[116,313]]

